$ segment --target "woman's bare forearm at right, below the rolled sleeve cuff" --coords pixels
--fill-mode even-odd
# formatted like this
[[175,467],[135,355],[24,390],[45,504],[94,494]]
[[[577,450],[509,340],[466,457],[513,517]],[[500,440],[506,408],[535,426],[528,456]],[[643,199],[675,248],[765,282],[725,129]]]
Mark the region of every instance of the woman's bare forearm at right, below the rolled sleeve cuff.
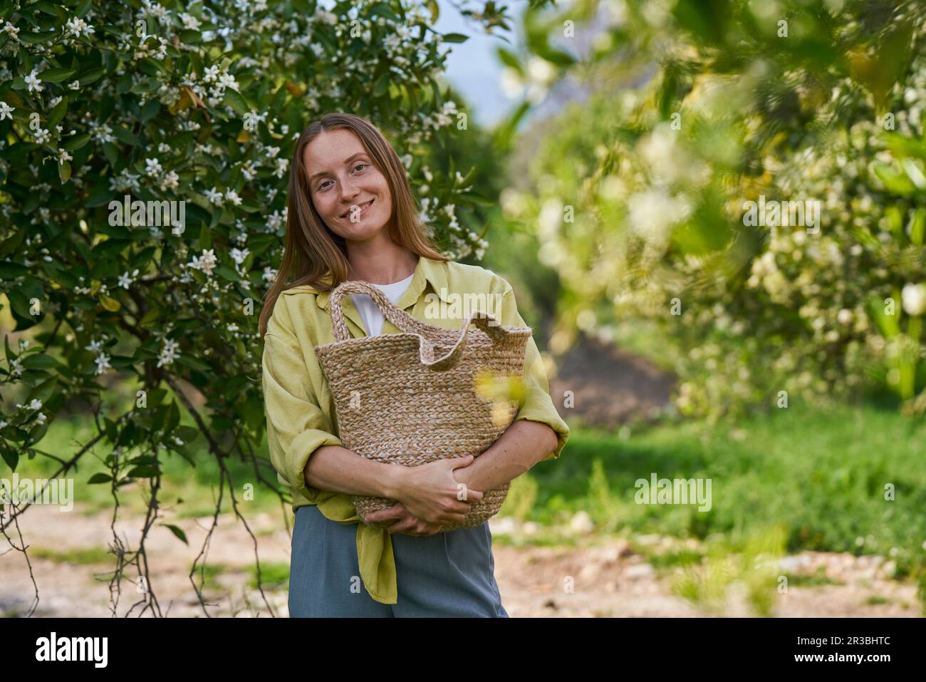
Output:
[[531,469],[557,443],[557,432],[545,423],[518,420],[469,466],[456,469],[454,478],[472,490],[493,490]]

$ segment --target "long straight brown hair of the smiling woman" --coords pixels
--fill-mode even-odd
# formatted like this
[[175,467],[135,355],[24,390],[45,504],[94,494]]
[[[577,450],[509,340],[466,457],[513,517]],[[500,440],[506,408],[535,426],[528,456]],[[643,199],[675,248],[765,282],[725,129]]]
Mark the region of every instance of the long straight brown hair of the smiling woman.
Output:
[[338,128],[353,131],[366,148],[369,157],[389,183],[393,212],[389,236],[395,244],[405,246],[418,256],[434,260],[449,260],[425,234],[415,198],[408,186],[405,167],[380,130],[369,120],[353,114],[326,114],[299,135],[290,167],[289,199],[286,215],[286,237],[280,272],[264,297],[260,311],[260,336],[267,333],[267,321],[280,293],[300,284],[310,284],[321,291],[333,289],[347,279],[350,263],[344,237],[334,234],[321,220],[309,196],[308,175],[304,152],[322,132]]

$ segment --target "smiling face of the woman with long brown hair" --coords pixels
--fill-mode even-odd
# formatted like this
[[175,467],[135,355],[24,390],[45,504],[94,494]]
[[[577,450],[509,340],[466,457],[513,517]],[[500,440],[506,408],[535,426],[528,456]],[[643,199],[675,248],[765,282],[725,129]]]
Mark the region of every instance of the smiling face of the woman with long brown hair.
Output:
[[393,211],[389,183],[355,133],[319,133],[304,161],[312,203],[334,234],[352,241],[379,234]]

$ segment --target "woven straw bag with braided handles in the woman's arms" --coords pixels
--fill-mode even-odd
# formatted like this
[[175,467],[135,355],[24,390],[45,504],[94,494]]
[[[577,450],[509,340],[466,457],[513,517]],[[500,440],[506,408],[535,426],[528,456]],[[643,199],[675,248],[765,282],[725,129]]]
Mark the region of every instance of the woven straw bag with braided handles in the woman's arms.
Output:
[[[350,338],[341,309],[347,294],[368,294],[400,334]],[[474,381],[485,371],[520,376],[530,327],[502,325],[489,313],[473,310],[459,330],[444,329],[416,320],[380,289],[359,281],[339,284],[329,305],[335,340],[315,347],[315,353],[331,387],[345,448],[403,466],[478,457],[514,421],[518,404],[483,401]],[[462,522],[442,531],[482,524],[501,508],[509,485],[483,491]],[[352,499],[361,519],[396,504],[376,497]]]

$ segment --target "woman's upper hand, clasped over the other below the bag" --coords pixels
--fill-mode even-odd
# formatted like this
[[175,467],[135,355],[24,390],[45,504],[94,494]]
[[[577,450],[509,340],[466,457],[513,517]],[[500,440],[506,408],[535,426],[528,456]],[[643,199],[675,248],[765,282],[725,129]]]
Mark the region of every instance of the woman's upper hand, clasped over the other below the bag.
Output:
[[482,499],[482,492],[469,488],[466,499],[457,499],[460,487],[454,479],[454,470],[472,461],[473,456],[467,455],[407,467],[399,476],[394,499],[412,516],[428,524],[457,524],[463,521],[473,503]]

